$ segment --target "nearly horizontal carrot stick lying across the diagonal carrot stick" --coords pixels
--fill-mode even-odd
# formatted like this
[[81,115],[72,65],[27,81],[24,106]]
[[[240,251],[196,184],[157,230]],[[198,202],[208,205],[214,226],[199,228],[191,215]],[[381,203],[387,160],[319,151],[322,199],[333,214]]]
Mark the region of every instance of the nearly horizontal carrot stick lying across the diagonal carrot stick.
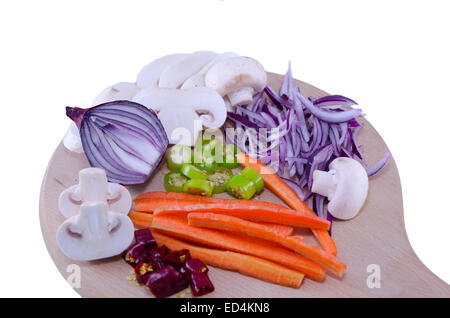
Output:
[[236,216],[254,222],[270,222],[290,226],[309,227],[328,230],[330,222],[315,215],[309,215],[295,210],[279,211],[272,208],[247,206],[240,204],[196,204],[184,207],[161,207],[154,211],[160,215],[184,215],[191,212],[211,212]]

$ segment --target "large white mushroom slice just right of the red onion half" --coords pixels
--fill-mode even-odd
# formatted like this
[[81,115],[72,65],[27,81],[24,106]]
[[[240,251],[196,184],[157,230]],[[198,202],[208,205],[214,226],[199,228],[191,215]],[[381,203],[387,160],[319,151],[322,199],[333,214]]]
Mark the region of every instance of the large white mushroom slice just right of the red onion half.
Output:
[[147,88],[133,101],[153,109],[170,143],[194,145],[202,126],[219,128],[227,117],[223,98],[206,87],[190,89]]

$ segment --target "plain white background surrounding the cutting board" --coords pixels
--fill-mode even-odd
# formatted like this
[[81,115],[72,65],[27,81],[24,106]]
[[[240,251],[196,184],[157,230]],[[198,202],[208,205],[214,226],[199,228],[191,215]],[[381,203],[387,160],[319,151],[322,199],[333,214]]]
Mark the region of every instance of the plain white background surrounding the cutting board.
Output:
[[450,282],[448,1],[2,1],[0,296],[78,297],[45,248],[46,165],[105,86],[175,52],[235,51],[359,102],[399,168],[409,240]]

